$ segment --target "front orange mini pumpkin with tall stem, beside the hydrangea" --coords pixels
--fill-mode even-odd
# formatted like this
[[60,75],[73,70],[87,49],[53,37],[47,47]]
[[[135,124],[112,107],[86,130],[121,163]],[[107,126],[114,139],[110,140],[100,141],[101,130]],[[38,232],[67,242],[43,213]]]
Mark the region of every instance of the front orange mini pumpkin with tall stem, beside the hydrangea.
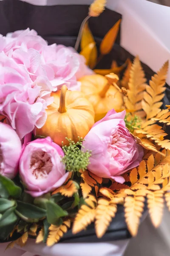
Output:
[[36,135],[50,136],[62,146],[68,139],[77,142],[78,136],[84,138],[94,125],[94,109],[85,96],[78,91],[67,90],[65,85],[60,91],[51,93],[54,102],[48,106],[45,125],[37,129]]

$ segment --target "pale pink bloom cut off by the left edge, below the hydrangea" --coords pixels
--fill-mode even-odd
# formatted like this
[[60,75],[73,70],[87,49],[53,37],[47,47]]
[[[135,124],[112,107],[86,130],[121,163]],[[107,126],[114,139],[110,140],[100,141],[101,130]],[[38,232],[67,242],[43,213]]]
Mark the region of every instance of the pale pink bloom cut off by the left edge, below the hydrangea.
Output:
[[14,178],[21,154],[21,141],[11,126],[0,122],[0,174]]

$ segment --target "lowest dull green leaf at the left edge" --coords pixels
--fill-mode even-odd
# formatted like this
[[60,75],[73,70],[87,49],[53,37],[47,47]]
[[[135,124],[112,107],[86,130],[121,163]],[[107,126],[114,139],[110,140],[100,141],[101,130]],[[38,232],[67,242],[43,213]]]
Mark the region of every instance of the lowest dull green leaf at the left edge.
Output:
[[0,218],[0,230],[1,230],[1,227],[11,225],[13,222],[17,221],[17,216],[14,214],[15,208],[16,207],[12,207],[8,209]]

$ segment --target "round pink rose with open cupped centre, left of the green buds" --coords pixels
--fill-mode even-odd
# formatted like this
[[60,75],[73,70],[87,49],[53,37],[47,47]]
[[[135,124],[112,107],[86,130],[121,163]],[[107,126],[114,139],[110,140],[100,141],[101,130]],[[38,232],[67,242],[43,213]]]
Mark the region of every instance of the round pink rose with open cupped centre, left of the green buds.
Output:
[[64,152],[50,137],[24,145],[20,157],[20,177],[26,192],[33,197],[54,191],[68,177],[61,162]]

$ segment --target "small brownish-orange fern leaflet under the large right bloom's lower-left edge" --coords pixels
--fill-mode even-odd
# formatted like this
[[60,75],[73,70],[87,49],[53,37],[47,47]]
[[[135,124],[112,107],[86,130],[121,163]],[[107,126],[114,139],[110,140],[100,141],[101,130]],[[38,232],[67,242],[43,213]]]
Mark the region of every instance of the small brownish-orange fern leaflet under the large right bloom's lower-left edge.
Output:
[[82,189],[82,195],[83,195],[83,198],[86,198],[90,194],[92,187],[94,187],[96,185],[96,183],[97,183],[96,179],[98,179],[100,182],[101,182],[101,180],[96,175],[93,176],[93,174],[91,174],[87,170],[81,171],[81,177],[83,180],[83,182],[80,183],[80,186]]

